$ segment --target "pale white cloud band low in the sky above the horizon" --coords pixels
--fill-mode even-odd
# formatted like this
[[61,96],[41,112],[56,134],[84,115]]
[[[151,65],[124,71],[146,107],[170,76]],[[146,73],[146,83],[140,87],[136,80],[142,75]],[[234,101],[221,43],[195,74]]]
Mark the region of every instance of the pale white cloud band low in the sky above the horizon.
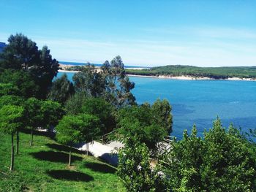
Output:
[[[248,29],[202,27],[152,29],[147,32],[151,36],[132,40],[29,38],[39,47],[48,45],[53,57],[59,61],[103,63],[121,55],[125,64],[137,66],[256,66],[256,33]],[[6,34],[0,34],[0,41],[4,36]]]

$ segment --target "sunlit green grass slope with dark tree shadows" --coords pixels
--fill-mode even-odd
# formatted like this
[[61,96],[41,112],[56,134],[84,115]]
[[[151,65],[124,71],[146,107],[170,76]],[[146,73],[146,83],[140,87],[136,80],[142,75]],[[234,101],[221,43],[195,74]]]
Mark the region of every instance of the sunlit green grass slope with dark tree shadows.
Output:
[[72,151],[68,167],[67,147],[42,135],[30,147],[29,138],[20,133],[20,154],[10,173],[11,138],[0,134],[0,191],[124,191],[115,167],[79,150]]

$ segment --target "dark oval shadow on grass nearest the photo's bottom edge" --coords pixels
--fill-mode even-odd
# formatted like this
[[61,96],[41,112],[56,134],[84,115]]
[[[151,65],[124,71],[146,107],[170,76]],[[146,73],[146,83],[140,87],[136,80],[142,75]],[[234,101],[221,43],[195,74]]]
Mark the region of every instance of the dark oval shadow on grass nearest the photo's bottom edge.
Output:
[[89,182],[91,180],[94,180],[94,177],[91,177],[89,174],[69,170],[52,170],[46,173],[56,180],[72,180],[83,182]]

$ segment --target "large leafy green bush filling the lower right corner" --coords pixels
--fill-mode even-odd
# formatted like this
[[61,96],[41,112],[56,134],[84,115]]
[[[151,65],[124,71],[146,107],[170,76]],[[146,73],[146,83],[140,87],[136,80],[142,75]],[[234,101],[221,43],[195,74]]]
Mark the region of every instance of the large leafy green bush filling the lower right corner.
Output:
[[173,143],[165,157],[165,174],[173,191],[255,191],[255,146],[232,125],[227,130],[217,118],[214,126],[197,137]]

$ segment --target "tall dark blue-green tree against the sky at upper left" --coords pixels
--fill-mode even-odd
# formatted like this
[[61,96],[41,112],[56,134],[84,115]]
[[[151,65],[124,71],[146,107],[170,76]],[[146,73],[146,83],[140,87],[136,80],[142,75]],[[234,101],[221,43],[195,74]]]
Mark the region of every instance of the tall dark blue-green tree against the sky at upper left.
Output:
[[0,54],[0,67],[29,72],[40,88],[38,97],[44,99],[53,77],[58,73],[58,61],[52,58],[48,47],[39,50],[36,42],[23,34],[11,35],[8,42]]

